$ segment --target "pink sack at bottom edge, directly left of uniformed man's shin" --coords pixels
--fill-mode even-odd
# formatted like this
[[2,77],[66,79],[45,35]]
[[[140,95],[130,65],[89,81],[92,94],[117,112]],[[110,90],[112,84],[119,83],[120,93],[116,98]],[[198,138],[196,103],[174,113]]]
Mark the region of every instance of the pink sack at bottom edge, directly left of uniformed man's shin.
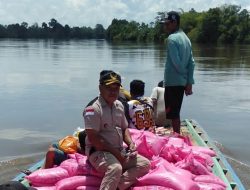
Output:
[[56,183],[56,190],[76,189],[79,186],[99,187],[102,179],[94,176],[72,176]]

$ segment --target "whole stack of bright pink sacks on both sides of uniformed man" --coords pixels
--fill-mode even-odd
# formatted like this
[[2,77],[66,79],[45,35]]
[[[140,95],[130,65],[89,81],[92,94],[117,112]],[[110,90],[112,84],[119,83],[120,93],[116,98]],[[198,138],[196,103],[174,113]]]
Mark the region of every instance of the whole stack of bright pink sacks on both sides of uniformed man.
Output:
[[[225,183],[212,173],[215,152],[192,146],[188,137],[157,136],[130,129],[139,154],[151,161],[148,174],[138,178],[132,190],[225,190]],[[38,190],[98,190],[104,174],[98,173],[78,153],[60,166],[40,169],[26,179]]]

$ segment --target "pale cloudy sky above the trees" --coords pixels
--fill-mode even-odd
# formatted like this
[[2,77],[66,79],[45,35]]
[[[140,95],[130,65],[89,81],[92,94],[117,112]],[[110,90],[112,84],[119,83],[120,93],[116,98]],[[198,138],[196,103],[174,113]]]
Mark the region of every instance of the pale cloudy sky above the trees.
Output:
[[48,23],[107,28],[114,18],[149,24],[157,12],[180,9],[207,11],[224,4],[240,5],[250,11],[249,0],[0,0],[0,24]]

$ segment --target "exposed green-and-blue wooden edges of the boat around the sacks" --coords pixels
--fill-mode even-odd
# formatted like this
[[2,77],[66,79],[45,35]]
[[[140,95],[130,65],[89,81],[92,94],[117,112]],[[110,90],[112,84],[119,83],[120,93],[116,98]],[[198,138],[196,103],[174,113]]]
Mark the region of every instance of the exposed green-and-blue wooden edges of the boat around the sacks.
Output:
[[[169,129],[166,129],[165,132],[165,134],[167,134]],[[245,190],[239,177],[228,163],[225,156],[220,152],[204,129],[195,120],[184,120],[182,122],[181,132],[183,135],[188,135],[195,145],[209,147],[217,153],[216,157],[213,158],[214,165],[212,171],[216,176],[220,177],[225,182],[227,190]],[[28,170],[31,172],[36,171],[41,168],[43,163],[44,159],[32,165]],[[13,180],[20,181],[28,187],[29,182],[24,177],[25,174],[20,173]]]

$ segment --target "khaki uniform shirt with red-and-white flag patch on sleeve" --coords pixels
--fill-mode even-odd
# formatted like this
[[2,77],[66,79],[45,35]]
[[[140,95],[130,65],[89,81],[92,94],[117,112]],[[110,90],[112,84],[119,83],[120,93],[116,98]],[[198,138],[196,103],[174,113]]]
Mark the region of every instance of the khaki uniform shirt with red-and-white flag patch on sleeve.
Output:
[[[122,103],[116,100],[112,108],[99,96],[83,112],[85,129],[96,130],[110,145],[119,150],[123,147],[123,133],[128,127]],[[86,138],[86,154],[89,155],[91,143]]]

